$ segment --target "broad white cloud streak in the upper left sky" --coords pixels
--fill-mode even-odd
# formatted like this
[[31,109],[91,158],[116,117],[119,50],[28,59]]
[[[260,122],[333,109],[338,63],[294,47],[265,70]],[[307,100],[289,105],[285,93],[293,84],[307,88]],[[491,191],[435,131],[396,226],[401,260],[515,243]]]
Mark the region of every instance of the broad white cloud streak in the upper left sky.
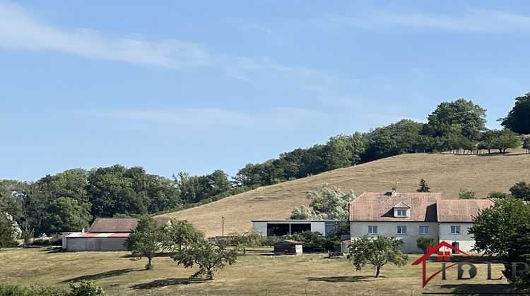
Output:
[[98,30],[48,25],[21,6],[3,1],[0,1],[0,47],[62,51],[86,58],[165,67],[213,63],[213,57],[201,44],[174,39],[148,42]]

